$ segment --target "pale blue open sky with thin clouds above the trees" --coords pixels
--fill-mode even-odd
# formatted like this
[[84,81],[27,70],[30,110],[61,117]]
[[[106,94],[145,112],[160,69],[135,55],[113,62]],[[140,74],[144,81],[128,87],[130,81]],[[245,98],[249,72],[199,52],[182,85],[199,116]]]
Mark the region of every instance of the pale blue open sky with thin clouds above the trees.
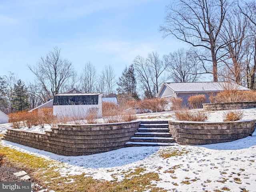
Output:
[[27,64],[61,48],[78,73],[90,61],[120,76],[137,56],[185,46],[158,32],[171,0],[0,0],[0,76],[34,78]]

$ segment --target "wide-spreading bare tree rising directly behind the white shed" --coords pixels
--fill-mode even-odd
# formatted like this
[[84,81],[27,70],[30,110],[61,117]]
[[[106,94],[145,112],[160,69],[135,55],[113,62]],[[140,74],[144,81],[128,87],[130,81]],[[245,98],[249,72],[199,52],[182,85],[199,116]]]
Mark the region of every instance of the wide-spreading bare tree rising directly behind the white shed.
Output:
[[58,47],[50,51],[46,57],[41,57],[36,66],[28,65],[28,68],[36,75],[36,80],[47,92],[48,98],[58,94],[68,79],[76,76],[72,62],[61,58]]

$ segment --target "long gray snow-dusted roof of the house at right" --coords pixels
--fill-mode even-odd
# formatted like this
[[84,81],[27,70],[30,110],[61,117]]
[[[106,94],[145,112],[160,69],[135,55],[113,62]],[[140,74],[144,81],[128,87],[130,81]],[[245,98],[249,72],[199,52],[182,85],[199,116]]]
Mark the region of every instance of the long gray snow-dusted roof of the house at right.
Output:
[[191,83],[164,83],[174,92],[217,92],[226,88],[249,90],[246,87],[228,82],[191,82]]

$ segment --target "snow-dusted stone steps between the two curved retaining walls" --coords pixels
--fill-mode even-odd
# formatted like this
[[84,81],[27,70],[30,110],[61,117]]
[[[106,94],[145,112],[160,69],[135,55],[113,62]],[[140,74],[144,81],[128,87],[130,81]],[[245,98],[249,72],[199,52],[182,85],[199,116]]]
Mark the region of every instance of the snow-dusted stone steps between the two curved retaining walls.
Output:
[[168,121],[143,121],[125,146],[173,146],[175,140],[168,129]]

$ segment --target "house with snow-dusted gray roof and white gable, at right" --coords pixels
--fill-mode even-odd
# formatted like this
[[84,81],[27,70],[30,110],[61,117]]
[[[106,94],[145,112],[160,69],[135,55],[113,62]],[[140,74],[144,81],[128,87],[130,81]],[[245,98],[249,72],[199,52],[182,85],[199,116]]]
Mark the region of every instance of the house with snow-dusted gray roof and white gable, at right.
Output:
[[240,86],[231,82],[188,82],[188,83],[170,83],[162,84],[158,98],[182,98],[183,104],[188,104],[188,98],[197,94],[204,94],[206,96],[206,103],[210,103],[210,94],[216,94],[223,90],[250,90],[246,87]]

